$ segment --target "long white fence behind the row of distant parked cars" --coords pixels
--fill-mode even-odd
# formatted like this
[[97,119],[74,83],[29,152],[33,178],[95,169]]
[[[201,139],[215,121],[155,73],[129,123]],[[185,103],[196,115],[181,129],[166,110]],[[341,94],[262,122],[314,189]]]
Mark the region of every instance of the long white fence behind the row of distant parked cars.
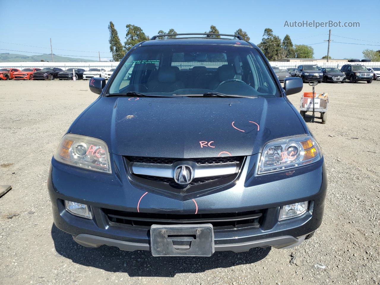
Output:
[[[349,62],[316,62],[316,61],[299,61],[299,62],[269,62],[272,66],[277,66],[280,68],[288,67],[298,67],[298,65],[318,65],[320,67],[336,67],[340,68]],[[351,62],[351,64],[363,64],[366,67],[380,67],[380,62]],[[26,68],[26,67],[59,67],[63,70],[67,68],[84,68],[88,70],[89,68],[104,68],[105,70],[110,70],[111,68],[117,67],[119,62],[0,62],[0,68],[14,67],[14,68]]]

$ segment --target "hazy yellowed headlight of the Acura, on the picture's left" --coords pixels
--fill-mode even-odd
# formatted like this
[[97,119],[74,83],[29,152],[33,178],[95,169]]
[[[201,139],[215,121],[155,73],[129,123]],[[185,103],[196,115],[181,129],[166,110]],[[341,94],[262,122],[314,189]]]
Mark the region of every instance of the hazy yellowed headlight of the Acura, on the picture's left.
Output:
[[100,139],[66,134],[62,138],[54,158],[69,165],[111,173],[108,147]]

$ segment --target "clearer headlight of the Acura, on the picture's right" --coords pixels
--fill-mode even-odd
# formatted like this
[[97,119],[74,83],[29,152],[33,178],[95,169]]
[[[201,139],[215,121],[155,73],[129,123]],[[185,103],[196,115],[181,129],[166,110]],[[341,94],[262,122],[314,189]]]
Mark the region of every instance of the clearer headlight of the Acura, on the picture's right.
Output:
[[321,159],[317,142],[309,135],[275,139],[261,154],[258,174],[303,166]]

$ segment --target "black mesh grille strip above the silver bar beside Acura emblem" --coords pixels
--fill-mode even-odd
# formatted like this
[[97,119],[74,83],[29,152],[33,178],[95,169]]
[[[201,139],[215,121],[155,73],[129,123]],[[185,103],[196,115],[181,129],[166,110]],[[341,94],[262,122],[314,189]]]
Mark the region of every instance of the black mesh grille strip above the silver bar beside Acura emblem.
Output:
[[[155,163],[155,164],[172,164],[174,161],[179,160],[179,158],[168,158],[168,157],[141,157],[141,156],[131,156],[127,157],[130,162],[140,162],[140,163]],[[195,161],[197,164],[218,164],[218,163],[239,163],[241,157],[239,156],[226,156],[226,157],[201,157],[201,158],[189,158],[188,160]]]

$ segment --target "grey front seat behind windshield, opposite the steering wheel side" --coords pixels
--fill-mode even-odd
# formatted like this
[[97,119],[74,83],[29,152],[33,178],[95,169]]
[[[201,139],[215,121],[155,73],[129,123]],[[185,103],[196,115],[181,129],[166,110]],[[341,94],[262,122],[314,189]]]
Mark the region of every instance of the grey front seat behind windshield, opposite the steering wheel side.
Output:
[[177,72],[173,67],[158,69],[157,79],[147,82],[148,92],[171,92],[182,89],[183,84],[177,81]]

